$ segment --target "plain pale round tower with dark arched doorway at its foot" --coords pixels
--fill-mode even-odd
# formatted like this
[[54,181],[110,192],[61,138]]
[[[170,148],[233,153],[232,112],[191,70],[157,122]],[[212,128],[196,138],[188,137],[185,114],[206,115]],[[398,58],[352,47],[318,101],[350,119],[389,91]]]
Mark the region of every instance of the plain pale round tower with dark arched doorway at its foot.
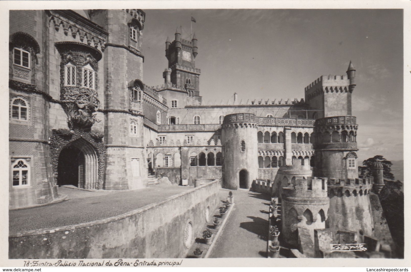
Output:
[[224,117],[221,142],[224,146],[223,187],[248,189],[257,179],[257,127],[254,114],[238,113]]

